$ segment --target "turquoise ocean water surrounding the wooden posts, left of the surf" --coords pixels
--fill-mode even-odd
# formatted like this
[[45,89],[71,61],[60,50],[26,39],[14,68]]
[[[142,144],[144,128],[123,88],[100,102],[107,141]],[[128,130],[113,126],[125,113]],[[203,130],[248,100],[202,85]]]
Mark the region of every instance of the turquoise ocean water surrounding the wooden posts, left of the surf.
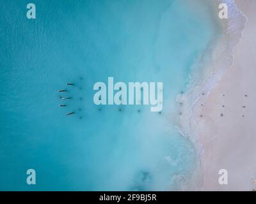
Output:
[[[35,20],[26,18],[29,2],[1,1],[0,190],[186,185],[196,150],[172,123],[175,99],[217,32],[212,8],[193,1],[35,0]],[[96,106],[93,85],[108,77],[163,82],[163,111]],[[26,184],[29,168],[35,186]]]

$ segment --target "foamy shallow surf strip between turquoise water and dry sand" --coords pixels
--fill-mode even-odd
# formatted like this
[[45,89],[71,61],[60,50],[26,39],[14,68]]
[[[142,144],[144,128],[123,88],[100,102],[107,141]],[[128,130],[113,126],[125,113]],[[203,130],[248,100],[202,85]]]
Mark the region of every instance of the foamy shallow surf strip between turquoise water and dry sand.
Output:
[[[186,104],[182,108],[182,112],[185,112],[186,114],[184,115],[186,116],[182,116],[178,128],[181,135],[186,136],[191,140],[197,151],[198,160],[196,161],[195,173],[192,176],[188,187],[188,189],[193,191],[198,189],[205,190],[204,175],[205,160],[207,159],[204,157],[204,149],[205,141],[208,139],[205,139],[205,136],[202,136],[201,133],[207,129],[205,126],[202,128],[203,117],[204,115],[207,115],[207,113],[202,112],[202,109],[204,108],[204,103],[206,103],[209,96],[211,96],[212,90],[218,87],[227,72],[232,68],[232,64],[234,63],[234,49],[241,41],[242,33],[247,21],[247,17],[241,10],[239,10],[239,8],[237,8],[234,0],[216,0],[207,3],[214,6],[214,10],[212,11],[214,12],[213,18],[216,18],[215,20],[218,22],[218,26],[221,27],[221,34],[218,34],[217,38],[212,39],[209,47],[206,48],[204,54],[200,57],[200,61],[196,62],[194,65],[199,66],[203,72],[200,73],[201,76],[199,76],[199,80],[198,75],[193,76],[191,83],[189,84],[190,88],[188,89],[188,92],[177,97],[178,103]],[[220,11],[218,5],[220,3],[228,4],[228,19],[220,19],[218,17],[218,12]],[[205,140],[202,141],[202,138]],[[210,140],[212,139],[214,138],[211,138]],[[218,175],[218,172],[216,175]]]

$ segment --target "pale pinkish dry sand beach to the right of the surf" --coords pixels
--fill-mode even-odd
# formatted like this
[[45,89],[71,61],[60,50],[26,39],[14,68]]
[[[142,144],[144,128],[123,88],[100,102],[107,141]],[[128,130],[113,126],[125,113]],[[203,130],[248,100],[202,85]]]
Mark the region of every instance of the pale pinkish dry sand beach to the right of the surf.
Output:
[[[203,115],[196,122],[203,145],[204,191],[256,189],[256,1],[236,0],[236,4],[248,22],[234,48],[233,65],[204,106],[196,108]],[[218,183],[223,168],[228,170],[227,186]]]

